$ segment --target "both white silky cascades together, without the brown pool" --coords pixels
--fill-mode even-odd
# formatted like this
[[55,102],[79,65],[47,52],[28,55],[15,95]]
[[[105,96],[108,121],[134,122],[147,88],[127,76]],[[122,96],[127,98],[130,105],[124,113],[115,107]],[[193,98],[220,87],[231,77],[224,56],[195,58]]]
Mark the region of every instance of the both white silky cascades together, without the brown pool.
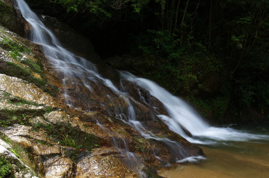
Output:
[[[31,41],[40,44],[42,46],[43,52],[53,64],[54,68],[64,74],[63,82],[65,85],[70,85],[70,83],[80,83],[91,91],[91,83],[89,81],[102,83],[103,85],[110,88],[112,92],[122,97],[129,104],[128,113],[116,113],[121,118],[127,118],[127,124],[135,128],[145,138],[153,138],[155,140],[166,143],[172,151],[178,153],[178,162],[181,162],[183,159],[190,156],[187,152],[184,152],[184,149],[180,143],[169,140],[168,138],[158,138],[152,133],[146,131],[143,127],[143,124],[136,121],[135,119],[135,109],[131,101],[137,101],[135,101],[135,99],[130,97],[127,93],[117,89],[110,80],[102,78],[92,63],[85,60],[84,58],[75,56],[63,48],[63,46],[58,42],[50,30],[47,29],[38,19],[38,17],[29,9],[28,5],[23,0],[16,1],[17,8],[20,9],[23,17],[33,27]],[[170,130],[180,134],[190,142],[200,144],[216,144],[218,142],[227,140],[247,141],[269,139],[269,135],[250,134],[230,128],[211,127],[209,124],[204,122],[202,117],[200,117],[197,112],[185,101],[172,95],[152,81],[143,78],[137,78],[128,72],[122,72],[121,74],[124,79],[148,90],[152,96],[155,96],[159,101],[161,101],[169,116],[158,115],[158,117],[165,124],[167,124]],[[69,96],[66,91],[64,93],[64,97],[66,103],[70,106],[73,106],[73,103],[71,102],[71,96]],[[142,102],[146,102],[142,96],[140,98]],[[90,108],[88,110],[90,110]],[[126,122],[123,119],[122,121]],[[189,136],[185,133],[184,130],[187,130],[193,136]],[[189,159],[186,160],[190,161],[197,159],[199,159],[199,157],[189,157]]]

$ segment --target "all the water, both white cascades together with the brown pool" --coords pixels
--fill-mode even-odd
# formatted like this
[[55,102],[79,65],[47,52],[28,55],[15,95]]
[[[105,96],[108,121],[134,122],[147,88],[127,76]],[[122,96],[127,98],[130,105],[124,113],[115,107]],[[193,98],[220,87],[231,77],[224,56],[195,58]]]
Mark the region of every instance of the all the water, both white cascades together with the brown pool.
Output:
[[[132,103],[144,103],[149,105],[146,99],[140,95],[140,101],[136,101],[127,92],[125,86],[116,88],[113,83],[100,76],[96,67],[89,61],[67,51],[47,29],[39,18],[30,10],[24,0],[16,0],[17,8],[23,17],[32,25],[31,41],[41,46],[44,54],[52,63],[56,71],[59,71],[63,78],[64,88],[77,87],[83,85],[90,92],[93,92],[92,85],[103,85],[108,90],[104,97],[110,97],[110,93],[117,95],[128,104],[128,111],[121,113],[117,110],[115,115],[120,116],[120,120],[135,128],[144,138],[151,138],[163,142],[171,150],[177,153],[178,166],[172,166],[160,170],[160,175],[167,178],[214,178],[214,177],[266,177],[269,173],[269,133],[253,133],[238,128],[211,127],[203,118],[182,99],[172,95],[157,84],[143,78],[137,78],[129,72],[120,72],[122,81],[139,86],[147,90],[151,96],[157,98],[167,115],[155,111],[155,115],[161,119],[171,131],[181,135],[192,143],[202,147],[206,158],[202,156],[192,157],[186,152],[180,143],[168,138],[158,138],[146,131],[143,123],[136,120],[135,109]],[[64,99],[70,107],[76,108],[68,90],[64,91]],[[152,101],[152,100],[151,100]],[[89,103],[90,105],[90,103]],[[116,107],[117,104],[115,104]],[[87,108],[87,107],[85,107]],[[88,108],[90,111],[90,108]],[[112,113],[113,114],[113,113]],[[154,120],[154,118],[152,118]],[[98,121],[97,121],[98,122]],[[104,131],[110,132],[108,128],[99,125]],[[266,128],[265,128],[266,129]],[[189,133],[189,134],[186,134]],[[126,157],[135,157],[134,153],[128,150],[128,146],[116,149],[120,150]],[[132,159],[134,160],[134,159]],[[195,162],[190,164],[189,162]],[[143,173],[140,174],[143,177]]]

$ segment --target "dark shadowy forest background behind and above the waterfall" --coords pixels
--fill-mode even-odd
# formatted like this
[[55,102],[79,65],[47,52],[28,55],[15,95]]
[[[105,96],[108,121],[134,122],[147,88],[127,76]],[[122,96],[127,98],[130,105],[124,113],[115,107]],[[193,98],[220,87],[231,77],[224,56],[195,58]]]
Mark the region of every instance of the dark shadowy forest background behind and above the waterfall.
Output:
[[89,38],[104,61],[140,56],[147,70],[137,75],[214,123],[269,119],[269,0],[26,1]]

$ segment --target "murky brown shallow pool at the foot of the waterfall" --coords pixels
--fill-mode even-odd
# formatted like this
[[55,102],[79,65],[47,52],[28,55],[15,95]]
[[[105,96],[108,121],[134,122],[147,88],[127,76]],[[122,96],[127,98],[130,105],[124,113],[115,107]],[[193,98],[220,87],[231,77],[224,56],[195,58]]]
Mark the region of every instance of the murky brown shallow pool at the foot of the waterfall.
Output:
[[201,146],[207,160],[163,168],[165,178],[268,178],[269,143],[236,143],[236,146]]

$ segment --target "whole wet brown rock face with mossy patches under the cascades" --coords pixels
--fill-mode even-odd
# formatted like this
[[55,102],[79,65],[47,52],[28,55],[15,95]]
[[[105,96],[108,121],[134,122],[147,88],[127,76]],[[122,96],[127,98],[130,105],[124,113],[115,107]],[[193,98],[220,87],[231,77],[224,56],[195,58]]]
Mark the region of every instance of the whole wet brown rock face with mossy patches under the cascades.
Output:
[[[0,26],[0,177],[145,177],[175,162],[179,152],[202,154],[158,118],[149,119],[153,107],[166,114],[161,105],[134,102],[136,119],[148,132],[177,141],[181,149],[141,136],[115,115],[115,108],[128,109],[127,102],[94,85],[84,95],[77,94],[83,93],[82,85],[64,87],[37,45]],[[66,89],[80,109],[63,102]],[[138,91],[150,97],[132,85],[128,89],[134,98]],[[91,112],[84,110],[85,103]]]

